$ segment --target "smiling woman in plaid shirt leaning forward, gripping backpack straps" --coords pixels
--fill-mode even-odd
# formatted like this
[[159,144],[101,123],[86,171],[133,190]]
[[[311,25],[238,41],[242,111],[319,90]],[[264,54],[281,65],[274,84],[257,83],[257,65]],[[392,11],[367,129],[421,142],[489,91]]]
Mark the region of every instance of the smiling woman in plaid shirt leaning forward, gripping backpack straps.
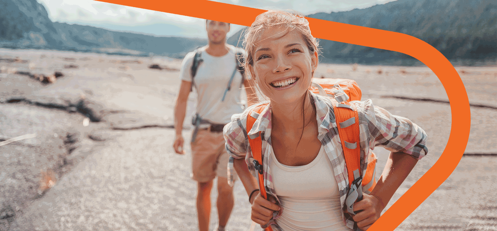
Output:
[[[373,106],[371,100],[340,104],[356,117],[338,125],[342,115],[333,105],[340,101],[310,91],[319,49],[300,13],[269,10],[258,15],[244,43],[245,68],[267,101],[232,116],[224,136],[234,159],[230,162],[249,195],[252,221],[274,231],[367,230],[417,160],[427,154],[426,133],[411,120]],[[248,125],[249,117],[253,125]],[[347,146],[360,149],[358,175],[374,163],[366,158],[372,147],[392,151],[382,177],[370,193],[362,192],[362,200],[356,200],[361,191],[349,186],[355,172],[349,180],[343,133],[337,132],[348,123],[358,124],[360,145]],[[252,147],[257,137],[260,149]],[[262,163],[255,150],[261,150]]]

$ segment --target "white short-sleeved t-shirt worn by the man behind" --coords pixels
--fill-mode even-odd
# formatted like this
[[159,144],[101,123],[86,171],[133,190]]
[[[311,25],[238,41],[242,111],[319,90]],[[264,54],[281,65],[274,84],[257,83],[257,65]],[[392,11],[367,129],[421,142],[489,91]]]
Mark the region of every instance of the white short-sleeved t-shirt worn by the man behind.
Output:
[[[224,102],[221,102],[236,68],[235,55],[237,52],[244,53],[241,48],[231,45],[228,45],[228,48],[230,51],[222,57],[209,55],[205,52],[206,47],[199,48],[204,61],[198,66],[193,80],[193,87],[197,92],[197,113],[202,119],[213,123],[229,123],[233,114],[243,112],[240,101],[242,74],[238,70],[231,83],[230,91],[226,93]],[[190,52],[183,59],[179,72],[181,80],[192,81],[191,66],[194,56],[195,52]]]

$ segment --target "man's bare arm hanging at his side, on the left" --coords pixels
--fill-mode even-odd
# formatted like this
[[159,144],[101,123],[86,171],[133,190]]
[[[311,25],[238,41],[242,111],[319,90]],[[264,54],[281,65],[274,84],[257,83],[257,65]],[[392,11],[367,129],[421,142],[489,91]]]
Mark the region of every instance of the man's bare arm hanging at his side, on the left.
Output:
[[176,98],[176,104],[174,105],[174,130],[176,135],[174,138],[174,151],[177,154],[184,154],[183,150],[183,121],[186,114],[186,103],[188,102],[188,95],[190,95],[191,82],[181,80],[181,85],[179,86],[178,97]]

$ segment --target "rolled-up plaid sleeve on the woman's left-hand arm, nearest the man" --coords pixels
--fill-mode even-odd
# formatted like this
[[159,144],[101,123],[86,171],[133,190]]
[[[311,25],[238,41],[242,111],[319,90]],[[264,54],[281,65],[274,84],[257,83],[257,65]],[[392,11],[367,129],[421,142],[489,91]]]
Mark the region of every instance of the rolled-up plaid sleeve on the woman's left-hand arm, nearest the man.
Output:
[[243,122],[246,119],[242,119],[243,115],[244,113],[231,116],[231,122],[223,129],[226,150],[235,159],[242,159],[247,155],[248,138]]

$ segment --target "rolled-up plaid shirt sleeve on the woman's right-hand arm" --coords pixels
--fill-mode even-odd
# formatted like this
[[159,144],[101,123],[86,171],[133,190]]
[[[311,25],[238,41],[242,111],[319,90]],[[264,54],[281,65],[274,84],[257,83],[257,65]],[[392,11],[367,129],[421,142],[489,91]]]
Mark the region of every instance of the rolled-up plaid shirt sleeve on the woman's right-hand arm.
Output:
[[428,153],[426,132],[410,119],[395,116],[373,106],[371,100],[360,102],[368,127],[369,147],[384,147],[391,152],[402,152],[419,160]]

